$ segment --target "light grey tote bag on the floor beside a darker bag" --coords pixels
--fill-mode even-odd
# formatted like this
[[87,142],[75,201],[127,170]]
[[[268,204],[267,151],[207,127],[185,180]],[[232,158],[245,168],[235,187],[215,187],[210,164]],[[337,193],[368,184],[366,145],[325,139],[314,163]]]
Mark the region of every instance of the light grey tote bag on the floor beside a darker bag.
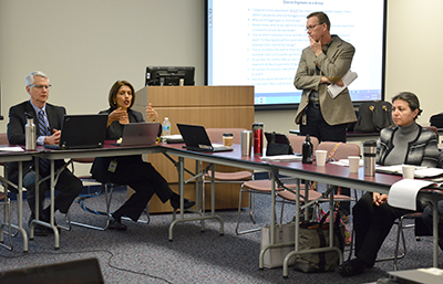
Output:
[[[264,267],[275,269],[275,267],[281,267],[284,265],[284,260],[286,255],[293,250],[293,240],[296,232],[295,225],[296,224],[293,222],[286,224],[276,224],[274,242],[276,244],[288,243],[288,245],[282,248],[268,249],[264,255]],[[270,244],[270,225],[265,225],[261,228],[260,250],[262,250],[268,244]],[[293,262],[295,257],[291,257],[288,264],[292,265]]]

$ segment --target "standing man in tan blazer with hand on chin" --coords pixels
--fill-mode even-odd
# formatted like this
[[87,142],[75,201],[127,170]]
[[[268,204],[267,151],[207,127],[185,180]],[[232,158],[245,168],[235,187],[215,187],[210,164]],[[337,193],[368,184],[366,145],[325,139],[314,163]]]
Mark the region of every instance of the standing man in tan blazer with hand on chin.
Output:
[[320,141],[346,141],[347,124],[357,122],[348,88],[336,98],[328,85],[343,86],[341,77],[350,70],[356,49],[338,35],[331,35],[329,18],[323,12],[308,17],[306,29],[310,45],[301,53],[293,85],[302,90],[296,124],[300,135]]

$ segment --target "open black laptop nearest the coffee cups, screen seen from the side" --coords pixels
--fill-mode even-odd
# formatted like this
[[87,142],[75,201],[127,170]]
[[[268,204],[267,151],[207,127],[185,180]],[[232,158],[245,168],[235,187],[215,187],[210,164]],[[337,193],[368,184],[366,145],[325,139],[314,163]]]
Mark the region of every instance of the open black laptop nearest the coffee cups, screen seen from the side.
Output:
[[186,149],[194,151],[231,151],[233,147],[212,144],[205,127],[200,125],[177,124]]

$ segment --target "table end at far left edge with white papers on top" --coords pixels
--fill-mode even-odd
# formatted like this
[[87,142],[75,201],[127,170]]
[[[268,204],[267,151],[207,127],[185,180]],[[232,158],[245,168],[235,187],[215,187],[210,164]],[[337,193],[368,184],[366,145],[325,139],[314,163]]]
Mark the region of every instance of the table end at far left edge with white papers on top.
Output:
[[[28,233],[23,229],[23,186],[22,186],[22,179],[18,180],[18,185],[14,185],[8,179],[8,167],[9,162],[18,162],[19,165],[19,177],[22,176],[23,172],[23,161],[29,161],[32,160],[33,155],[35,155],[35,151],[28,151],[24,150],[24,148],[21,147],[14,147],[14,146],[1,146],[3,150],[0,150],[0,164],[3,166],[3,177],[0,177],[0,180],[6,188],[6,192],[8,192],[8,187],[13,187],[17,189],[17,213],[18,213],[18,224],[11,223],[11,227],[16,230],[18,230],[19,233],[22,234],[23,238],[23,252],[28,252]],[[7,148],[14,148],[14,151],[11,151],[11,149]],[[22,150],[17,151],[18,148],[21,148]],[[11,220],[9,220],[11,222]],[[1,233],[3,233],[1,231]],[[3,238],[3,235],[2,235]],[[12,243],[10,244],[12,249]]]

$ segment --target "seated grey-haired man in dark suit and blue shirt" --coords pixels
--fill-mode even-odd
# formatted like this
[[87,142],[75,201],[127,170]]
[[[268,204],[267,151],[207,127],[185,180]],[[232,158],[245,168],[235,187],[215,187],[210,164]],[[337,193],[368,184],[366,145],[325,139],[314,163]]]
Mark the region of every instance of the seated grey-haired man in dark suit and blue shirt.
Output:
[[[58,145],[60,140],[60,128],[64,114],[66,113],[64,107],[54,106],[48,104],[49,97],[49,78],[40,72],[31,72],[25,78],[25,90],[30,95],[30,99],[21,104],[14,105],[9,109],[9,123],[8,123],[8,140],[11,145],[24,145],[25,133],[24,125],[27,124],[25,114],[30,114],[34,117],[35,133],[37,133],[37,145]],[[40,116],[40,118],[39,118]],[[40,122],[39,122],[40,119]],[[64,165],[63,160],[55,161],[55,169],[61,168]],[[40,178],[44,178],[50,175],[50,165],[45,159],[40,159],[39,164]],[[19,177],[18,164],[13,162],[9,167],[8,172],[10,179],[17,183]],[[28,190],[28,204],[31,209],[31,218],[29,222],[35,219],[35,171],[34,160],[23,162],[23,187]],[[47,180],[39,186],[39,219],[49,222],[50,220],[50,207],[43,209],[43,200],[45,191],[50,189],[50,181]],[[72,201],[82,192],[83,186],[79,178],[76,178],[70,170],[64,169],[55,185],[55,190],[59,193],[55,197],[54,204],[55,211],[59,210],[61,213],[66,213]],[[35,235],[47,235],[52,230],[47,230],[44,227],[35,225]]]

